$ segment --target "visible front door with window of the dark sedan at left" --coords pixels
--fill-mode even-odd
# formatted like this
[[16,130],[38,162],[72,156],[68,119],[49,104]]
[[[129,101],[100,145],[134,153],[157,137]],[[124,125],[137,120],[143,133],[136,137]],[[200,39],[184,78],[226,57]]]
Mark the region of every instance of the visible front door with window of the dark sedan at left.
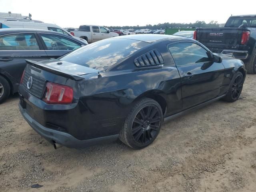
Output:
[[82,46],[66,36],[50,33],[38,33],[38,35],[49,59],[58,58]]

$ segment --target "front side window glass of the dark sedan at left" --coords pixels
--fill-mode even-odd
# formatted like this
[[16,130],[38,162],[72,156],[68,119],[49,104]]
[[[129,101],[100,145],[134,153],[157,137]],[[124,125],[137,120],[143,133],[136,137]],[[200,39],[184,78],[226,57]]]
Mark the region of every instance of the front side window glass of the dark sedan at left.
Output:
[[81,47],[81,44],[60,35],[40,34],[47,50],[75,50]]

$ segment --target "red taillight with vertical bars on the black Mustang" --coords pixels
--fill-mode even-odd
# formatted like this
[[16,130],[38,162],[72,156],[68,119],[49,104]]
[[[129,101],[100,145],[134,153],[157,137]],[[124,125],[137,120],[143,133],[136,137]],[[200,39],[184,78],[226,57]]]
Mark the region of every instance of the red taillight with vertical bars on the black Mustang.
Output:
[[69,104],[73,101],[73,89],[68,86],[48,82],[43,100],[49,104]]

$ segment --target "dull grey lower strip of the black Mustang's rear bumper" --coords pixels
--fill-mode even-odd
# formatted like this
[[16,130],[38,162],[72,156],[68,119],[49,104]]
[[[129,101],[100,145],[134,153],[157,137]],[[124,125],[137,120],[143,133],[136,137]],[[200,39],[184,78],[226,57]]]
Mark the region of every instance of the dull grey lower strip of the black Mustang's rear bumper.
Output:
[[107,142],[112,142],[118,139],[118,135],[105,136],[100,138],[88,139],[88,140],[78,140],[74,136],[57,130],[52,130],[46,128],[36,122],[29,114],[26,112],[26,109],[22,108],[19,104],[20,112],[28,124],[43,138],[48,140],[50,143],[59,143],[68,148],[85,148],[87,146],[92,146],[96,144],[103,144]]

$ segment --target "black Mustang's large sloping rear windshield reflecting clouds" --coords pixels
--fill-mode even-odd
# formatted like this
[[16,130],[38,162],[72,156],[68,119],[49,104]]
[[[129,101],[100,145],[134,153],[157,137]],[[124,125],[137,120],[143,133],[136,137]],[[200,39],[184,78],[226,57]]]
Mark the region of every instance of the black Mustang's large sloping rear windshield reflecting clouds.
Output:
[[110,38],[86,45],[59,59],[97,70],[106,70],[148,44],[131,39]]

